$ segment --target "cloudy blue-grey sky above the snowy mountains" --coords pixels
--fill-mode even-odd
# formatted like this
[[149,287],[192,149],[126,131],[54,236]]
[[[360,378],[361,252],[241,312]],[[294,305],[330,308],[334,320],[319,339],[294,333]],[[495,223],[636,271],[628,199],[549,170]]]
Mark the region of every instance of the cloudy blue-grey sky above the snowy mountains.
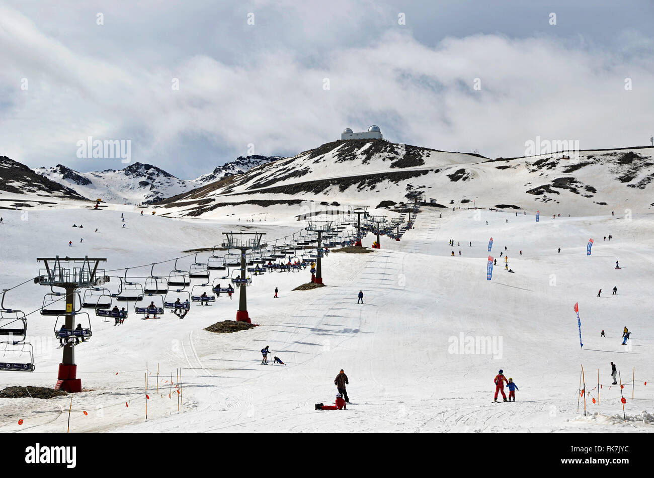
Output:
[[487,157],[654,134],[651,0],[132,3],[0,0],[0,155],[121,168],[78,141],[129,140],[186,179],[373,123]]

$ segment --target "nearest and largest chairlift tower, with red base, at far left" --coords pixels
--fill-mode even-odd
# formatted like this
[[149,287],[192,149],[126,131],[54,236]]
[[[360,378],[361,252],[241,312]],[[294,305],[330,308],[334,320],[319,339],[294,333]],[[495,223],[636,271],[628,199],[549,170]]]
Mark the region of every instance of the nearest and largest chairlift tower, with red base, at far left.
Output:
[[[34,283],[47,285],[51,290],[53,287],[65,289],[65,327],[67,330],[75,329],[75,296],[78,294],[77,290],[85,287],[97,287],[109,282],[109,277],[105,276],[105,271],[97,268],[100,261],[106,262],[107,259],[90,258],[88,256],[84,258],[60,258],[57,256],[54,258],[39,257],[37,261],[43,261],[45,268],[39,271],[39,276],[34,279]],[[80,267],[66,267],[71,263],[81,264]],[[54,389],[61,389],[71,393],[82,391],[82,379],[77,378],[75,350],[69,343],[63,347],[63,357],[59,364],[57,385],[55,385]]]

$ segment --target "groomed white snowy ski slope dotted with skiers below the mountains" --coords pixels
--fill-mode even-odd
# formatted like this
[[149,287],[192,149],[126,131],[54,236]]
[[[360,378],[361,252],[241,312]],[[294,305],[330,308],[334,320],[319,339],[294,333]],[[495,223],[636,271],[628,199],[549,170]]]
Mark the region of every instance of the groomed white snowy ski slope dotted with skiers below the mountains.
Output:
[[[237,222],[237,216],[175,220],[141,217],[129,206],[111,208],[35,210],[26,220],[21,220],[21,211],[3,211],[1,285],[37,276],[37,256],[107,257],[110,270],[218,244],[223,231],[251,226],[271,239],[303,225],[292,220],[296,211],[291,214],[288,208],[270,208],[265,223],[252,224]],[[259,209],[252,206],[252,211]],[[71,431],[652,431],[654,216],[542,215],[536,223],[533,214],[445,210],[439,218],[439,211],[423,208],[402,242],[382,238],[383,248],[370,254],[330,253],[323,262],[328,287],[292,292],[308,281],[308,271],[253,278],[248,305],[252,322],[260,327],[252,330],[203,330],[233,319],[237,296],[230,301],[221,295],[211,307],[194,306],[184,320],[166,313],[160,320],[144,321],[131,313],[124,325],[114,327],[92,317],[91,341],[75,347],[78,377],[92,391],[73,397]],[[83,223],[84,229],[72,228],[73,223]],[[604,242],[608,234],[613,240]],[[487,281],[490,236],[498,265]],[[588,257],[591,237],[593,254]],[[450,239],[455,247],[447,245]],[[69,240],[74,247],[67,246]],[[373,240],[369,234],[364,245]],[[504,270],[504,257],[499,256],[504,246],[515,274]],[[450,255],[453,249],[455,257]],[[615,270],[616,260],[621,270]],[[155,273],[167,275],[172,265],[156,266]],[[148,273],[149,268],[129,271],[130,276]],[[611,295],[613,285],[618,295]],[[275,287],[277,299],[272,298]],[[37,310],[46,289],[28,283],[10,292],[5,305]],[[356,304],[359,289],[364,291],[363,305]],[[625,325],[632,331],[629,346],[621,345]],[[55,348],[53,327],[54,317],[28,317],[36,370],[0,372],[3,387],[54,385],[61,349]],[[600,338],[602,328],[606,338]],[[501,347],[495,353],[451,353],[460,334],[488,337],[496,345],[501,340]],[[259,350],[265,345],[287,366],[261,365]],[[627,383],[626,424],[620,390],[610,387],[611,361]],[[581,364],[589,390],[587,417],[583,397],[577,413]],[[168,398],[167,383],[177,368],[182,368],[179,412],[174,389]],[[315,403],[334,401],[333,381],[341,368],[349,377],[353,403],[347,411],[315,411]],[[492,403],[492,379],[500,368],[519,387],[515,403]],[[591,403],[591,396],[598,396],[598,369],[599,405]],[[65,397],[0,399],[0,430],[63,432],[68,404]]]

